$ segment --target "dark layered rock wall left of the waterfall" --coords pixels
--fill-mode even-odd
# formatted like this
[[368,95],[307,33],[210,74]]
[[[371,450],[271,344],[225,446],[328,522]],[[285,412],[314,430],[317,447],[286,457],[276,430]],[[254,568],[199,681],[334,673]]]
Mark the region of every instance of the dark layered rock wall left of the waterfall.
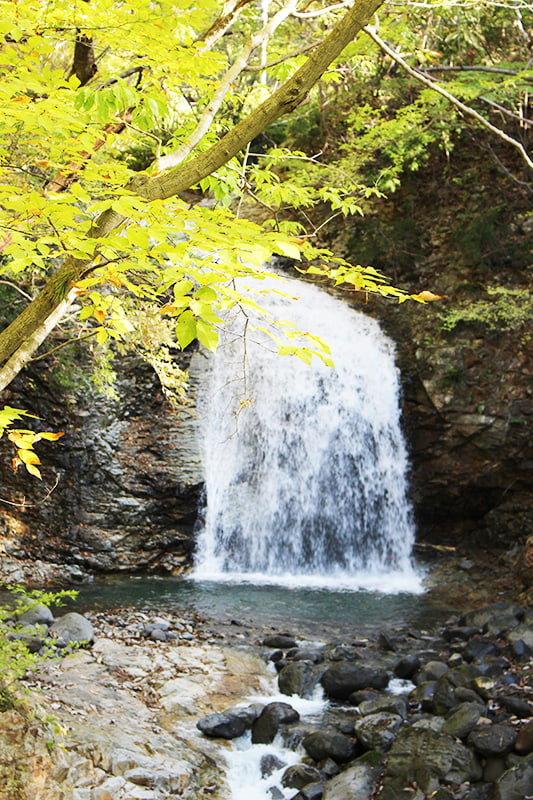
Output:
[[14,386],[8,403],[65,436],[37,446],[42,484],[6,468],[3,442],[3,494],[25,499],[22,508],[0,504],[7,555],[88,572],[175,573],[190,563],[202,486],[194,410],[172,408],[152,369],[133,357],[122,361],[116,389],[117,400],[86,386],[59,393],[42,368]]

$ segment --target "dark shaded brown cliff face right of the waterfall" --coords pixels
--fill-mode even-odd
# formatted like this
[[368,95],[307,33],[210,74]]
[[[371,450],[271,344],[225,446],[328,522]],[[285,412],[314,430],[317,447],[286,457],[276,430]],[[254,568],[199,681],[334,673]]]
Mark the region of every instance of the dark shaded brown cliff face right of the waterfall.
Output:
[[444,296],[361,301],[397,344],[419,539],[511,548],[531,530],[531,320],[487,288],[531,291],[532,223],[530,195],[465,147],[329,241],[396,286]]

